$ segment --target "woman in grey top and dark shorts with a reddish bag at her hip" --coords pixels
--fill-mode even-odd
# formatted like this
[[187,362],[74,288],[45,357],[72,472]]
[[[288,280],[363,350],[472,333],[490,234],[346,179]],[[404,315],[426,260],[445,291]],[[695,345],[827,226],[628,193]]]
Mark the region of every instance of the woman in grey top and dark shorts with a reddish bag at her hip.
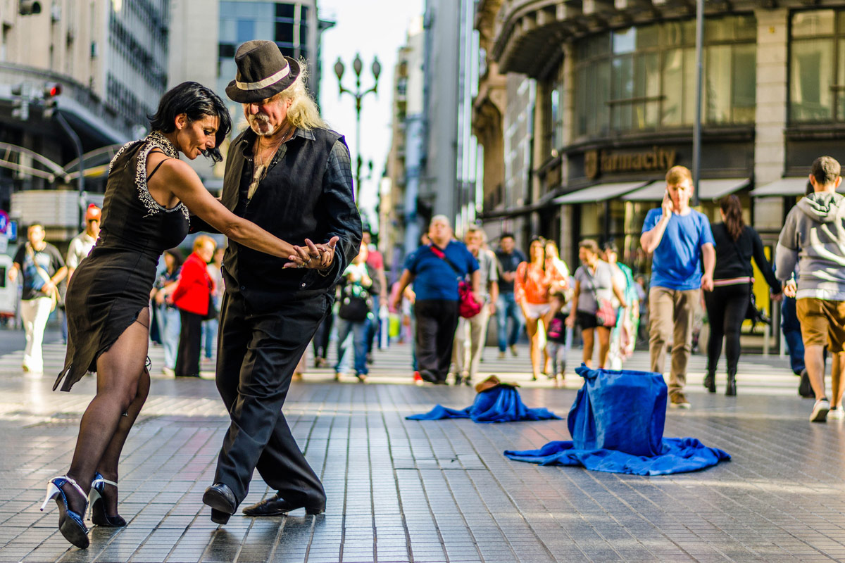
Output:
[[575,270],[575,290],[572,294],[572,311],[566,318],[569,327],[575,323],[581,327],[584,341],[583,361],[592,367],[592,355],[598,337],[598,367],[608,366],[610,331],[615,326],[617,311],[613,308],[613,296],[622,307],[625,302],[619,281],[613,276],[613,268],[598,257],[598,243],[586,239],[578,243],[578,259],[581,266]]

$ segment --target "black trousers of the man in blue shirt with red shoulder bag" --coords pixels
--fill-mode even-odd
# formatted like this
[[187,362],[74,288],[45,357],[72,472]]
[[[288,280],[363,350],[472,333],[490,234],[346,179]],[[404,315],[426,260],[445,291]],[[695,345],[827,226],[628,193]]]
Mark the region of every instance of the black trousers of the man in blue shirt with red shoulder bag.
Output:
[[452,361],[452,344],[458,328],[458,302],[442,299],[417,300],[417,367],[423,378],[446,381]]

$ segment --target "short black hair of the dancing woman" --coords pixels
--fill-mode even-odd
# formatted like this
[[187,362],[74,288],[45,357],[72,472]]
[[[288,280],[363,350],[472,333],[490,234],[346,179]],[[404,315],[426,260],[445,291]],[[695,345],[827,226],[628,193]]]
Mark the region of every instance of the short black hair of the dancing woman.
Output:
[[215,116],[220,120],[220,126],[215,133],[215,147],[203,151],[203,155],[215,162],[220,162],[220,145],[232,131],[232,116],[226,109],[221,97],[199,82],[183,82],[165,92],[159,100],[158,111],[150,120],[150,129],[161,133],[172,133],[176,129],[176,116],[185,114],[188,121],[196,122],[205,116]]

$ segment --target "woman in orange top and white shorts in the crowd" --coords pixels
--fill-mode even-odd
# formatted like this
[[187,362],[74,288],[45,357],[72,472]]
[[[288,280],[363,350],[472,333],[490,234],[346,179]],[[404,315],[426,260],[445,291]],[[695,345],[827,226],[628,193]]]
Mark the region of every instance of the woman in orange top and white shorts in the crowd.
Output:
[[541,365],[546,365],[548,357],[542,351],[543,363],[540,363],[540,345],[537,322],[542,322],[543,330],[548,329],[552,320],[552,306],[549,304],[548,289],[552,284],[551,273],[546,270],[545,241],[535,238],[528,249],[531,262],[523,262],[516,268],[514,279],[514,297],[522,308],[526,319],[526,331],[531,340],[532,380],[537,381]]

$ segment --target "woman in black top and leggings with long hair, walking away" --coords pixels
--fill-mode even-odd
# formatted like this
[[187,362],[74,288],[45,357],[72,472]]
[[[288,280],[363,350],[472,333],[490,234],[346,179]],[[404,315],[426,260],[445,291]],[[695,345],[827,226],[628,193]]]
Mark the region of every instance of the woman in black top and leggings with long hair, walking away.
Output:
[[722,223],[713,225],[716,241],[716,268],[713,271],[713,290],[704,292],[707,318],[710,320],[710,341],[707,344],[707,375],[704,387],[716,392],[716,365],[722,355],[722,338],[728,356],[728,386],[725,394],[736,395],[736,373],[739,362],[739,330],[748,310],[752,277],[751,258],[763,273],[775,295],[781,293],[781,284],[771,271],[763,253],[760,235],[742,218],[742,205],[736,196],[722,198],[719,204]]

